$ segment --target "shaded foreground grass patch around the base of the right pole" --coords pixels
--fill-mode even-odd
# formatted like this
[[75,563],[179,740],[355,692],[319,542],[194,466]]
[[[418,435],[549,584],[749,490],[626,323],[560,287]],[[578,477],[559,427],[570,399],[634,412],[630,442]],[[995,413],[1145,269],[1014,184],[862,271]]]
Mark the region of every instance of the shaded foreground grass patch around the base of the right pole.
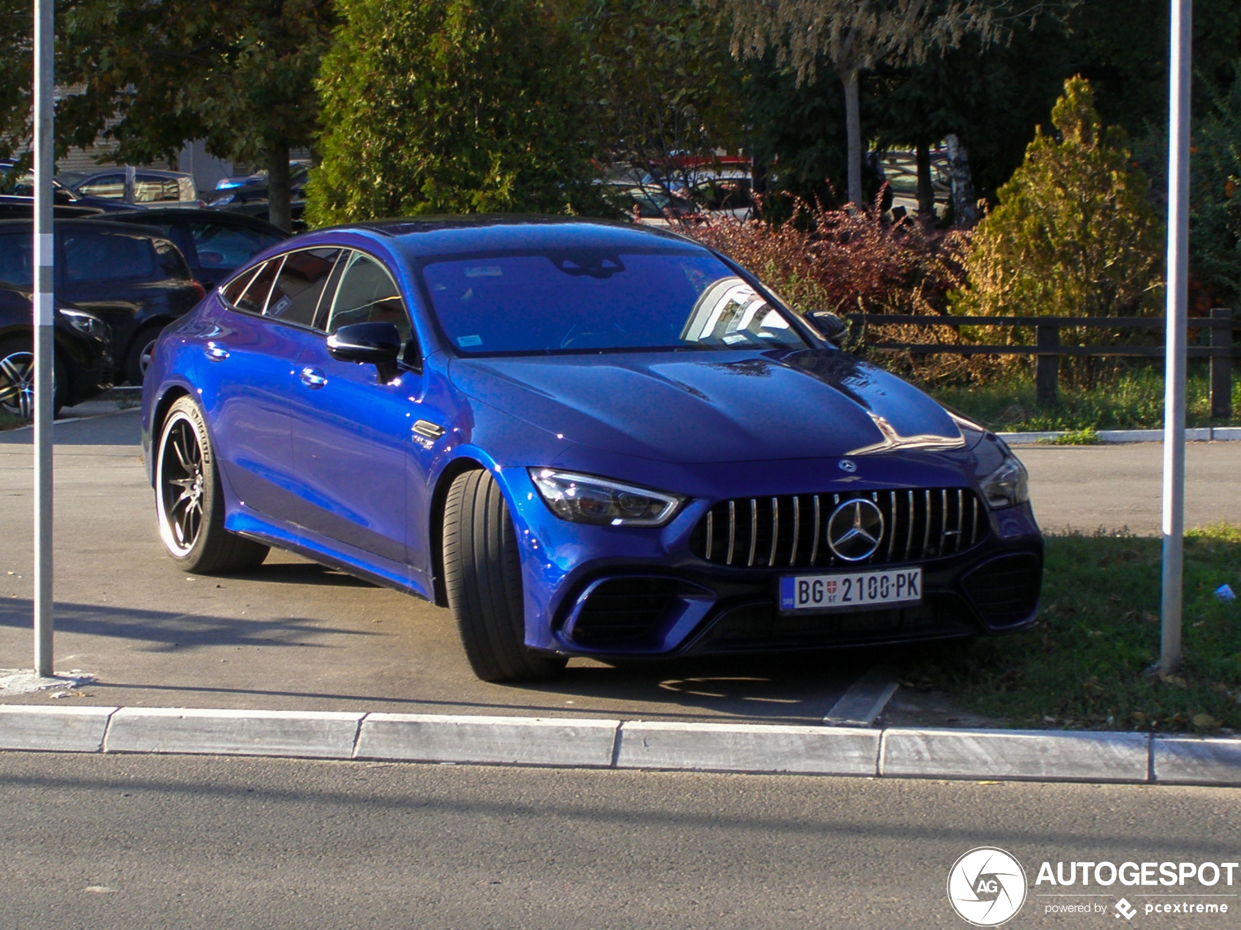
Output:
[[1019,728],[1241,729],[1241,526],[1185,539],[1184,665],[1159,657],[1160,541],[1126,533],[1046,537],[1042,608],[1026,632],[942,646],[906,682]]

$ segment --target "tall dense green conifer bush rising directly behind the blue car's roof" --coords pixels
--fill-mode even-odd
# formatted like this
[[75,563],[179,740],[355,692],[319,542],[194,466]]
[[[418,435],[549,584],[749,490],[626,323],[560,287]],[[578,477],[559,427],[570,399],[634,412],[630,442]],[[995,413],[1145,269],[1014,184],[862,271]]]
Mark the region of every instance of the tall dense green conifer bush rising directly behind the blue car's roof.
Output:
[[318,88],[313,226],[603,210],[580,53],[541,0],[341,0]]

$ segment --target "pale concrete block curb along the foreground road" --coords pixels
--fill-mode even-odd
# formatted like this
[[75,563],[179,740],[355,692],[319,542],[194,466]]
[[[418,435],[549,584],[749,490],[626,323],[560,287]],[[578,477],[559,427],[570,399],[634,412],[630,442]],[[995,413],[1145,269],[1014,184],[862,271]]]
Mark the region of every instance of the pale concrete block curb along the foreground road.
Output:
[[0,704],[0,750],[1241,785],[1241,739],[1065,730]]

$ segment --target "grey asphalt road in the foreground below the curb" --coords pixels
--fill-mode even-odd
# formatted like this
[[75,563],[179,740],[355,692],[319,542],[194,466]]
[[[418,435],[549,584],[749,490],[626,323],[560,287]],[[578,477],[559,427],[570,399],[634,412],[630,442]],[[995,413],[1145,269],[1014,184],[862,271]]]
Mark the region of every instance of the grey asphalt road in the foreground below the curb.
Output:
[[[1239,823],[1229,789],[4,753],[0,928],[956,930],[948,870],[998,846],[1008,926],[1114,930],[1178,889],[1045,916],[1040,863],[1236,861]],[[1212,900],[1132,925],[1235,926]]]

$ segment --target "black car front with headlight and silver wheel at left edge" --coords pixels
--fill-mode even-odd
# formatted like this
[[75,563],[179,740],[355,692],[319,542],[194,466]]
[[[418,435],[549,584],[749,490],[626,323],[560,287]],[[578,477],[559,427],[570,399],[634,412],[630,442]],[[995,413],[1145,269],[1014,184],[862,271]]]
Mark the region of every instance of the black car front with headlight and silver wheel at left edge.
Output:
[[[27,253],[19,264],[11,253],[0,255],[0,275],[20,278],[22,267],[29,272],[30,258]],[[29,281],[29,274],[26,278]],[[22,419],[30,419],[35,409],[34,319],[29,284],[0,280],[0,409]],[[53,334],[53,408],[60,413],[62,407],[89,401],[110,387],[112,346],[103,320],[60,300]]]

